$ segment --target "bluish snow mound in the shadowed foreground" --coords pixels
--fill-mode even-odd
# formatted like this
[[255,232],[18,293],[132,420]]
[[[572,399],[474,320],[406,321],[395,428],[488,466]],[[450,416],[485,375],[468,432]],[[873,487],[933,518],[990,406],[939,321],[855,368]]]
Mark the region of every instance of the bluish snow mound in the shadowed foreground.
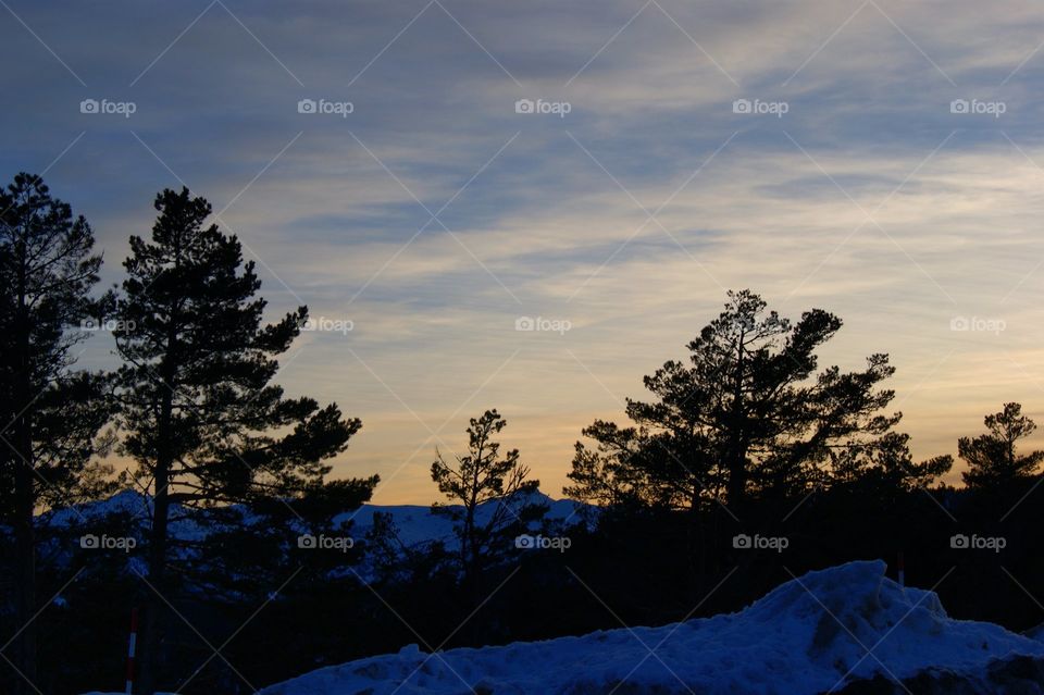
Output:
[[1044,644],[954,620],[933,592],[899,586],[882,561],[860,561],[809,572],[736,613],[436,654],[411,645],[260,695],[795,695],[929,668],[975,673],[1009,656],[1044,657]]

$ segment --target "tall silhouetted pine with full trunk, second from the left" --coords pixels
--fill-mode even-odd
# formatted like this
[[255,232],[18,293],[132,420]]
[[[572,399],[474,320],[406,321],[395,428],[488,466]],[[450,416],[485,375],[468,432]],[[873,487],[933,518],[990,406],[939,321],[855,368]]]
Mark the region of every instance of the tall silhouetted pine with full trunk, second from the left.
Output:
[[308,318],[306,307],[262,325],[254,263],[188,189],[164,190],[151,238],[130,237],[116,346],[123,451],[152,495],[142,693],[158,685],[165,601],[176,588],[172,511],[294,497],[315,489],[361,426],[334,404],[288,398],[271,384]]

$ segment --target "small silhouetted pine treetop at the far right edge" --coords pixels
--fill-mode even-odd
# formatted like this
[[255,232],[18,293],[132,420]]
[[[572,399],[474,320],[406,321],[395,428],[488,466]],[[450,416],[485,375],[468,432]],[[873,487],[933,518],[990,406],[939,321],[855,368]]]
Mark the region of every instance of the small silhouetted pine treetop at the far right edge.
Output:
[[984,423],[990,432],[957,442],[957,455],[968,463],[961,474],[965,485],[992,487],[1033,475],[1044,461],[1044,451],[1016,451],[1018,440],[1036,430],[1036,423],[1022,414],[1022,406],[1004,404],[1004,410],[986,415]]

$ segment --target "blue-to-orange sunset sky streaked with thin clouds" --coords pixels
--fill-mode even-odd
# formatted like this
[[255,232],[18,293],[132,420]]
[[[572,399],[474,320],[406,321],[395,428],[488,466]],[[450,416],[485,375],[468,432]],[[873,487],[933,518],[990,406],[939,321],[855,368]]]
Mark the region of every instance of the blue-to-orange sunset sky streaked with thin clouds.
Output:
[[1044,423],[1042,45],[1007,0],[0,0],[0,175],[105,284],[159,190],[210,200],[316,320],[277,381],[362,419],[334,474],[380,504],[436,500],[486,408],[560,496],[731,288],[838,314],[823,365],[888,352],[927,458]]

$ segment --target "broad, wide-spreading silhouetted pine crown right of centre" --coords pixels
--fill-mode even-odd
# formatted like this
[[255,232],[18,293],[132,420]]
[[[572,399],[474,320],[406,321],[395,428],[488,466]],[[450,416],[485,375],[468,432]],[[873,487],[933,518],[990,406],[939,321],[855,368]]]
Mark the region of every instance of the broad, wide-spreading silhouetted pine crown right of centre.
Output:
[[894,397],[879,388],[895,371],[886,355],[870,356],[863,371],[817,371],[817,350],[841,325],[821,309],[792,324],[758,295],[729,293],[725,310],[688,344],[688,363],[672,360],[645,377],[655,400],[627,400],[636,426],[598,421],[584,431],[597,448],[577,443],[566,494],[739,507],[751,493],[791,495],[830,482],[838,451],[848,451],[848,472],[891,466],[923,477],[942,468],[933,461],[903,472],[906,440],[886,437],[902,414],[882,412]]

